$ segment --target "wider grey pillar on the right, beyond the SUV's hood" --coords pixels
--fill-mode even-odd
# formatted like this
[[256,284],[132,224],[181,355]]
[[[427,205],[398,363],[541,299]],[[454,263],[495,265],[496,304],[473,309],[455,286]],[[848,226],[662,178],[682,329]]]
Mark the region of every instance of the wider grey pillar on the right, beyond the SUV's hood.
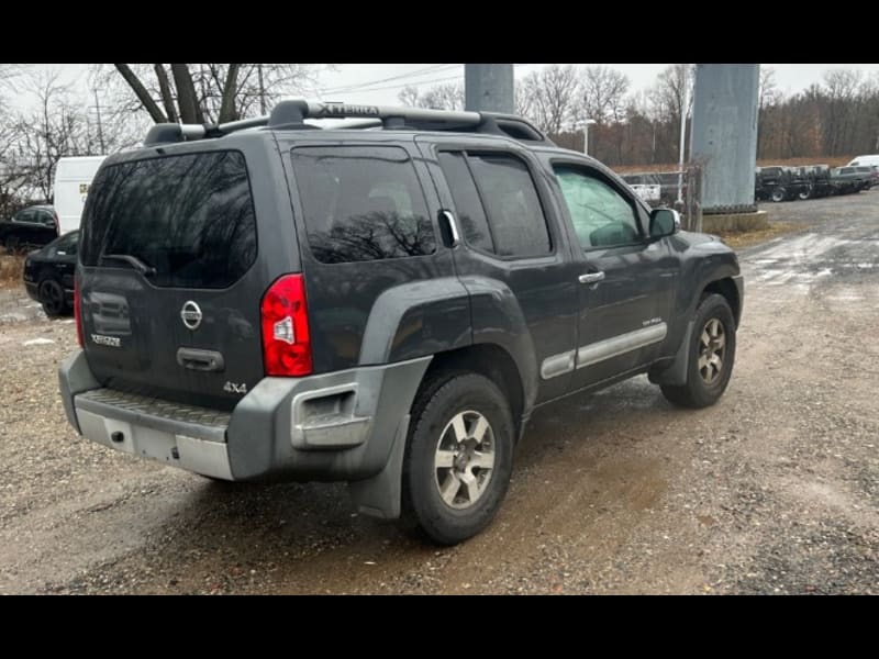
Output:
[[705,213],[750,212],[757,164],[758,64],[697,64],[690,158]]

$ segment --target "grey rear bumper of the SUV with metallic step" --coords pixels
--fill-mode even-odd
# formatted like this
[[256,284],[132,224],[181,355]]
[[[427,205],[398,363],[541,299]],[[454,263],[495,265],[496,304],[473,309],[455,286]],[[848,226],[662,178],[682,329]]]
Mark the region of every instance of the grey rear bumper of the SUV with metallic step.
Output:
[[357,481],[404,442],[430,361],[265,378],[231,413],[103,389],[81,350],[62,364],[59,384],[70,424],[110,448],[226,480]]

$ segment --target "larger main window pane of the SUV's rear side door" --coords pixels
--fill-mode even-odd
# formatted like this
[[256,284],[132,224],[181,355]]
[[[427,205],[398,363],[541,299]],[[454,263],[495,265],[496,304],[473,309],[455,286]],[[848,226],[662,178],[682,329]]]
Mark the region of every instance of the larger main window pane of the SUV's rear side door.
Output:
[[553,250],[546,217],[525,164],[514,156],[467,154],[500,256],[545,256]]

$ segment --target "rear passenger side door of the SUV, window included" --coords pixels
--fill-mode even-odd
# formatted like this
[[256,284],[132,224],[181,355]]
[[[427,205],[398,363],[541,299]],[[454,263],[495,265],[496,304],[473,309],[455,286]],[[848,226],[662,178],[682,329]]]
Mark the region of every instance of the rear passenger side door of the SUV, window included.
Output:
[[[500,342],[510,293],[536,357],[536,402],[570,391],[577,345],[577,278],[539,164],[514,144],[487,147],[457,137],[419,137],[443,177],[463,245],[455,268],[471,295],[474,339]],[[508,337],[509,338],[509,337]],[[516,337],[519,339],[519,337]]]

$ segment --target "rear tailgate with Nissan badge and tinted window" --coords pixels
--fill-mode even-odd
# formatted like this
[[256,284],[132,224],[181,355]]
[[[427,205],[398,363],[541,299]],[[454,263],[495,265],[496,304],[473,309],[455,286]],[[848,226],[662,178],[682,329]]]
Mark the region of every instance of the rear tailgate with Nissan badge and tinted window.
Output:
[[86,356],[108,387],[231,409],[263,377],[259,305],[278,272],[255,266],[257,216],[276,244],[292,222],[271,177],[249,174],[270,166],[259,143],[223,143],[155,149],[91,187],[80,298]]

